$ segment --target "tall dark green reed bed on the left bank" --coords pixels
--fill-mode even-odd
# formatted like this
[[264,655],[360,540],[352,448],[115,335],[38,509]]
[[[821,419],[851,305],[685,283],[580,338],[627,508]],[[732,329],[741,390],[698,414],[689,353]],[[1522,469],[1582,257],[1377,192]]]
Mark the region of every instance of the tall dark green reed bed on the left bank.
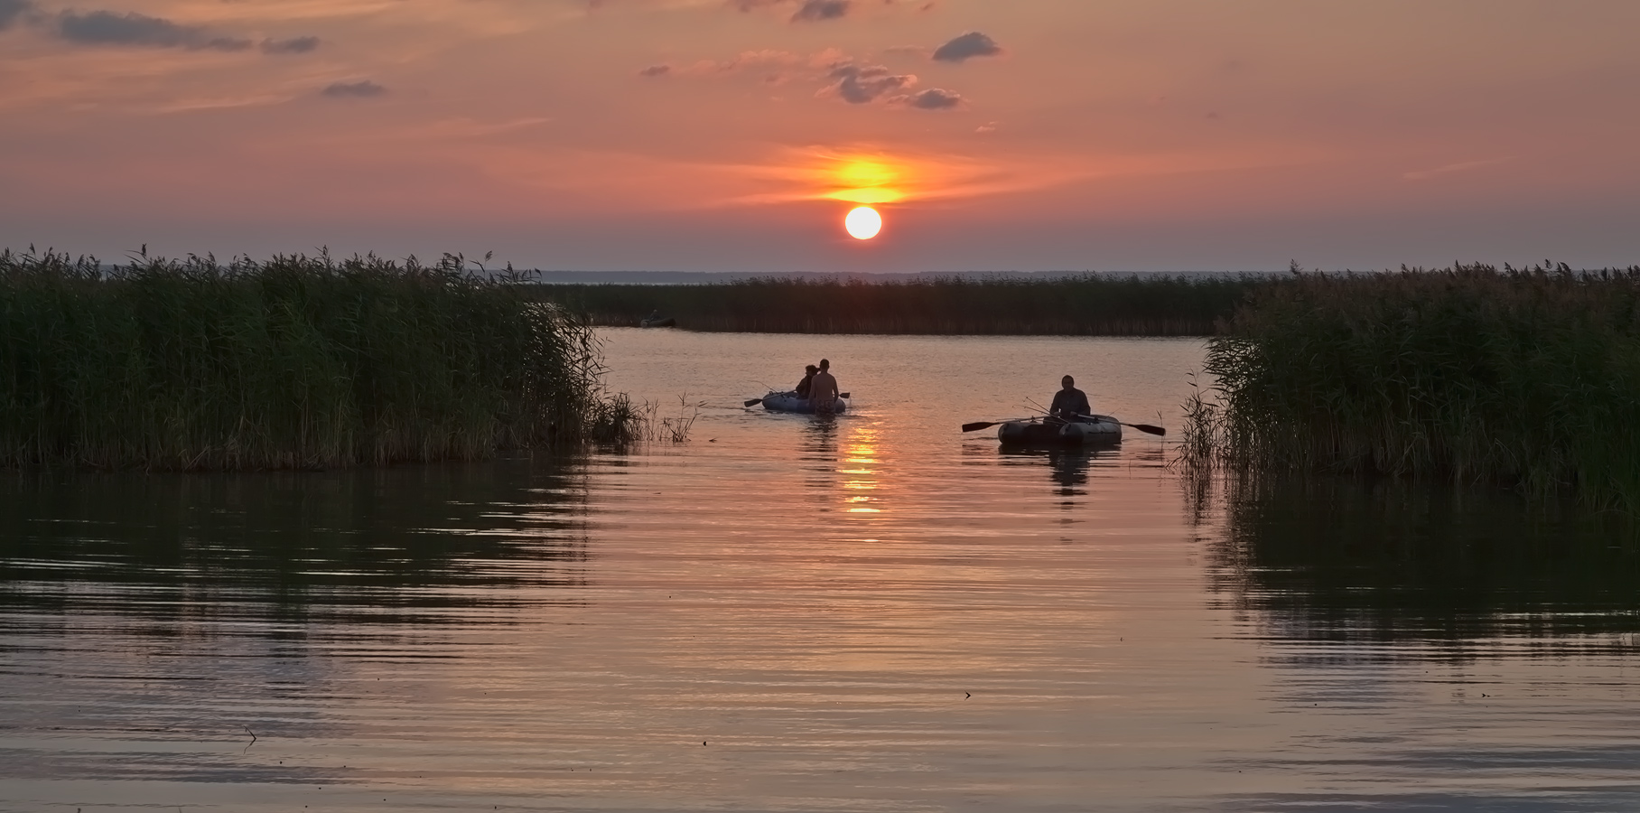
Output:
[[328,254],[0,252],[0,464],[313,469],[625,441],[584,320],[520,279]]

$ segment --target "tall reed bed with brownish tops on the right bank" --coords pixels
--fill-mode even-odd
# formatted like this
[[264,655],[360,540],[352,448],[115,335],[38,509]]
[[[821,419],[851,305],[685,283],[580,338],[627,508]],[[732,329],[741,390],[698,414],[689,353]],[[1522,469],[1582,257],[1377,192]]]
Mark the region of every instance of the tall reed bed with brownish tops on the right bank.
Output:
[[1640,266],[1294,269],[1204,369],[1187,466],[1502,482],[1640,511]]

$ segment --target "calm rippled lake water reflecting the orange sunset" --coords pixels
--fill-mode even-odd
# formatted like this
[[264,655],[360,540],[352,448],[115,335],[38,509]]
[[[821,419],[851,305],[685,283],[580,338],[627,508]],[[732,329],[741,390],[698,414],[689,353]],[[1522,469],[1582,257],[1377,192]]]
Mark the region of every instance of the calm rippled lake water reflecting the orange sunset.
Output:
[[958,429],[1189,339],[605,338],[687,443],[0,479],[0,810],[1640,810],[1609,516]]

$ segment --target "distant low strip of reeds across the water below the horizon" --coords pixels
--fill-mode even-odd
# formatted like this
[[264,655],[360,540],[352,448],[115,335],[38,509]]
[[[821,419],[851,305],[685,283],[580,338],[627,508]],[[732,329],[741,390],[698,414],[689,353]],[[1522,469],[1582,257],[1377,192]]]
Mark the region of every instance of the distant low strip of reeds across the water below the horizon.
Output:
[[594,325],[653,311],[695,331],[1205,336],[1251,277],[751,279],[707,285],[531,285]]

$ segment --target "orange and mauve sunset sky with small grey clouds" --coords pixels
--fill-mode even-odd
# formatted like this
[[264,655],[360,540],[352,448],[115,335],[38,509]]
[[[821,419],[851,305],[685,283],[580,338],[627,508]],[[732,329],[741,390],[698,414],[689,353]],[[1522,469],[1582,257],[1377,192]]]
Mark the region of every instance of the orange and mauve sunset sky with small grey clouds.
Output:
[[1635,31],[1633,0],[0,0],[0,246],[1630,266]]

